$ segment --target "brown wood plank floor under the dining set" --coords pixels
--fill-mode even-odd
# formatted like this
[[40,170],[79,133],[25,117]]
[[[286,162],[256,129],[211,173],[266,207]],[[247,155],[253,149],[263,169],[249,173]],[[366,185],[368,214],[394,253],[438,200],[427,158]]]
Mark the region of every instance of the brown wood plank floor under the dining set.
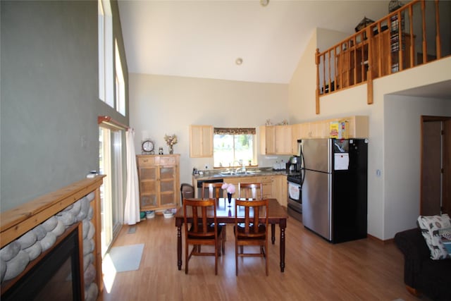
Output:
[[292,218],[286,230],[285,272],[280,273],[276,226],[276,244],[268,247],[268,277],[264,259],[257,257],[240,258],[240,274],[235,276],[231,225],[217,276],[214,257],[192,257],[189,274],[185,262],[178,271],[175,219],[156,216],[138,223],[135,233],[128,228],[123,226],[113,246],[144,243],[140,269],[117,273],[112,287],[99,293],[99,301],[428,300],[405,289],[404,259],[393,243],[364,239],[333,245]]

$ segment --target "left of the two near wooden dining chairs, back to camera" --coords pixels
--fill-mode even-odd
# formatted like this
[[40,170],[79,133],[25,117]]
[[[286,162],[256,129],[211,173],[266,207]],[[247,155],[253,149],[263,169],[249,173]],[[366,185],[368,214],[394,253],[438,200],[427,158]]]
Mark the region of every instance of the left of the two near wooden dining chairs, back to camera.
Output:
[[[188,217],[192,216],[192,223]],[[185,223],[185,274],[188,262],[194,256],[214,256],[214,274],[218,274],[218,254],[221,252],[221,226],[216,221],[216,199],[184,199],[183,219]],[[213,221],[207,222],[207,219]],[[190,245],[192,250],[189,252]],[[214,252],[201,252],[200,245],[213,245]]]

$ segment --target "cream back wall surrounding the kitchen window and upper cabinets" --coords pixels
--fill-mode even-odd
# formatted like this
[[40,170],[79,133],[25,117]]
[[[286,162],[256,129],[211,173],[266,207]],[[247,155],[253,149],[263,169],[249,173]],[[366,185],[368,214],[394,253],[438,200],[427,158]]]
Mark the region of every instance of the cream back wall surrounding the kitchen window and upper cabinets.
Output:
[[[151,138],[168,153],[163,137],[175,134],[180,154],[180,182],[192,183],[192,168],[211,168],[213,158],[192,159],[189,125],[257,127],[266,119],[288,120],[288,85],[130,74],[130,126],[135,128],[135,150]],[[259,166],[272,166],[286,156],[259,156]]]

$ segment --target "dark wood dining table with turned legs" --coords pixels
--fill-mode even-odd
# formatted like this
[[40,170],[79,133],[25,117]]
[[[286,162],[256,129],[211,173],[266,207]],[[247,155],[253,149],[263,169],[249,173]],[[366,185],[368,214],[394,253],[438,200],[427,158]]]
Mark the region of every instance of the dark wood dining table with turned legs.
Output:
[[[216,199],[216,221],[218,223],[235,223],[237,216],[238,223],[244,222],[244,213],[235,212],[235,198],[228,202],[227,198]],[[264,221],[264,216],[261,216]],[[271,243],[276,242],[276,224],[280,228],[280,272],[285,271],[285,228],[287,228],[288,214],[285,207],[279,204],[277,199],[268,199],[268,223],[271,224]],[[190,212],[187,214],[187,223],[192,222]],[[177,227],[177,266],[178,270],[182,269],[182,226],[184,223],[183,207],[175,212],[175,226]]]

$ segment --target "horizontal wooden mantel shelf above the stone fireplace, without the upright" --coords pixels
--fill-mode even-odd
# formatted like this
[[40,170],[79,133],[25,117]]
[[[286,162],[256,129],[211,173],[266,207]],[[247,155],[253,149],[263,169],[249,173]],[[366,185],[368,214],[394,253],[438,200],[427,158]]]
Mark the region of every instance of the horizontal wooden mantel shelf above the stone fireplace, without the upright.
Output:
[[20,207],[1,212],[0,248],[30,231],[35,226],[54,216],[78,199],[89,194],[103,183],[105,176],[86,178],[65,188],[56,190],[42,197],[27,202]]

